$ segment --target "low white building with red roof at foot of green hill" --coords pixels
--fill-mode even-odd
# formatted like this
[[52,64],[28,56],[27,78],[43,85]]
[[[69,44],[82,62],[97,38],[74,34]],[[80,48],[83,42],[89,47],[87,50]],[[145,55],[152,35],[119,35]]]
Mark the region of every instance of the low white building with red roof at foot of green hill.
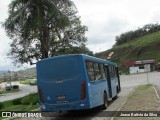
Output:
[[122,65],[129,67],[129,73],[155,71],[155,60],[128,61],[123,62]]

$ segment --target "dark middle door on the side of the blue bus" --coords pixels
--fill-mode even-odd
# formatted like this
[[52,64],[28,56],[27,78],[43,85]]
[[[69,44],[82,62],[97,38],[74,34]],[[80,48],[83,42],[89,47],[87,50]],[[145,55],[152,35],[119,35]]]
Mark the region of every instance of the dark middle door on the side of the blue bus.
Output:
[[108,83],[108,90],[109,90],[109,96],[112,98],[112,86],[111,86],[111,78],[109,74],[109,66],[105,65],[105,74],[106,74],[106,79]]

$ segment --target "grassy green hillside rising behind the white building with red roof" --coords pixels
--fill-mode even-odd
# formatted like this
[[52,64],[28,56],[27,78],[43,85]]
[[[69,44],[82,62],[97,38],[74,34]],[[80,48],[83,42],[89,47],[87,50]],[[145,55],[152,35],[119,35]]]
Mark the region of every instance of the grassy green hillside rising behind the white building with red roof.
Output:
[[160,31],[113,47],[95,56],[106,59],[109,53],[114,52],[110,61],[121,63],[132,60],[154,59],[160,61]]

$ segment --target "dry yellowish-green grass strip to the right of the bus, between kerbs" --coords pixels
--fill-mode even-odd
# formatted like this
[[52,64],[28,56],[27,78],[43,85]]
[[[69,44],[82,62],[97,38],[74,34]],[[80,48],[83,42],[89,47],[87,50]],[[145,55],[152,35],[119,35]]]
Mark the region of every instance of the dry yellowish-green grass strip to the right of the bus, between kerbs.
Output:
[[[156,96],[155,90],[153,88],[153,85],[140,85],[136,87],[135,91],[129,96],[125,104],[120,109],[121,111],[126,111],[128,113],[142,113],[144,114],[144,111],[160,111],[160,104],[159,99]],[[130,112],[132,111],[132,112]],[[120,115],[120,114],[119,114]],[[135,120],[136,117],[117,117],[114,118],[114,120]],[[137,117],[139,120],[159,120],[158,117]]]

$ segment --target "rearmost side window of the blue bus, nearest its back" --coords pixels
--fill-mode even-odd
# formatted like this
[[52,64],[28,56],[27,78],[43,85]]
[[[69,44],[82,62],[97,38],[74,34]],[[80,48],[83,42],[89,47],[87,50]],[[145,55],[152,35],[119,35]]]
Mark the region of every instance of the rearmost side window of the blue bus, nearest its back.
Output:
[[93,62],[86,61],[86,68],[88,73],[88,78],[90,81],[94,81],[94,69],[93,69]]

